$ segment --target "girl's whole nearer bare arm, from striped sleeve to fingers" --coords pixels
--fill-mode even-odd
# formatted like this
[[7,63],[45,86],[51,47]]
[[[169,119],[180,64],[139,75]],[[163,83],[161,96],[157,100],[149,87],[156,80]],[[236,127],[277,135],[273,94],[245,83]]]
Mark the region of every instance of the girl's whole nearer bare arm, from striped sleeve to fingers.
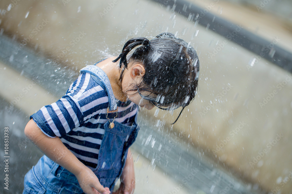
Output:
[[76,176],[84,193],[110,193],[109,188],[104,188],[100,184],[93,171],[80,162],[62,143],[60,138],[50,138],[46,136],[33,119],[27,123],[24,132],[27,138],[29,138],[46,156]]

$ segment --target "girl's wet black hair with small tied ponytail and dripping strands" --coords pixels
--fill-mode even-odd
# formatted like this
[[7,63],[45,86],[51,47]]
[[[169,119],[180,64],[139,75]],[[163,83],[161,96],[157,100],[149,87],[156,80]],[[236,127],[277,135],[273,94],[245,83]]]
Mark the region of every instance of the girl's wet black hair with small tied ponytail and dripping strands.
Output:
[[[152,40],[132,38],[126,42],[119,57],[112,61],[115,63],[120,59],[120,68],[124,65],[121,81],[125,68],[128,68],[127,54],[139,45],[142,46],[135,49],[128,60],[143,63],[145,74],[142,82],[131,91],[137,90],[142,98],[162,110],[188,106],[198,88],[199,58],[194,48],[172,33],[161,33]],[[143,91],[151,94],[145,96]]]

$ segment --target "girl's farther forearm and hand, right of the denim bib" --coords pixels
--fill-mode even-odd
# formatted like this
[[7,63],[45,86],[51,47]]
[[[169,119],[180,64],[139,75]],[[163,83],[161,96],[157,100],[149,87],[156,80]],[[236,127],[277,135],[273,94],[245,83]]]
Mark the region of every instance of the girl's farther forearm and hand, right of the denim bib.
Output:
[[130,149],[126,159],[125,167],[121,176],[121,185],[113,194],[133,194],[135,189],[134,162]]

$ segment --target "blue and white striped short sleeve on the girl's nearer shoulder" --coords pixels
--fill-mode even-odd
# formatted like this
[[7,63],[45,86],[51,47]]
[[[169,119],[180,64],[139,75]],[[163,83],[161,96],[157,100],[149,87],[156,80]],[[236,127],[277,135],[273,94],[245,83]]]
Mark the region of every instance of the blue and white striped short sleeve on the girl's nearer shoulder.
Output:
[[[80,74],[77,80],[71,84],[65,96],[57,102],[43,106],[31,115],[30,119],[33,119],[47,136],[64,136],[84,123],[84,118],[88,116],[88,111],[85,111],[84,107],[91,106],[92,108],[90,108],[96,111],[96,103],[92,103],[92,101],[106,95],[105,91],[100,88],[93,82],[90,74]],[[88,93],[92,95],[88,96]],[[93,111],[89,113],[91,116],[94,115]]]

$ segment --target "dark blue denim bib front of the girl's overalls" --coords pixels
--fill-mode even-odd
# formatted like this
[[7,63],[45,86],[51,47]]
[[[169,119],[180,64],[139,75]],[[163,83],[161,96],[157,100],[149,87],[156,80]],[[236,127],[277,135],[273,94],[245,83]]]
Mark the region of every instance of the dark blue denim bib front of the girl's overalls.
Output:
[[114,128],[109,128],[109,121],[105,124],[105,135],[102,139],[98,157],[98,167],[93,170],[99,178],[100,184],[112,191],[114,183],[121,176],[127,158],[128,148],[138,134],[138,125],[126,126],[114,121]]

